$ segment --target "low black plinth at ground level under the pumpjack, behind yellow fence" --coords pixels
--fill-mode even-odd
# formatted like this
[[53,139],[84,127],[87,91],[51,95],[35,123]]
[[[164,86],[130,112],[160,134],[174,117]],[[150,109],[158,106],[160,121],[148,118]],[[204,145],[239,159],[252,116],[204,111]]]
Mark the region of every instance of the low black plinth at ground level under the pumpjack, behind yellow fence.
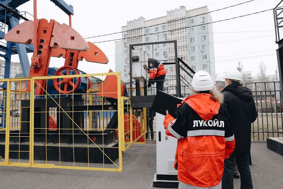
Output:
[[[103,163],[102,146],[99,146],[101,150],[95,147],[95,145],[89,145],[89,148],[84,144],[74,145],[74,148],[73,145],[69,144],[60,144],[60,146],[60,158],[62,162],[75,161],[76,163],[88,163],[89,156],[89,163]],[[19,152],[14,152],[19,151],[19,144],[10,143],[9,151],[9,159],[19,159]],[[29,144],[21,143],[20,151],[29,151]],[[104,153],[114,162],[119,157],[117,141],[104,146]],[[0,155],[1,157],[5,157],[5,145],[0,145]],[[104,155],[104,163],[112,164],[106,155]],[[20,152],[20,159],[29,159],[29,152]],[[46,160],[46,146],[44,143],[34,144],[34,160]],[[47,161],[59,161],[59,146],[47,146]]]

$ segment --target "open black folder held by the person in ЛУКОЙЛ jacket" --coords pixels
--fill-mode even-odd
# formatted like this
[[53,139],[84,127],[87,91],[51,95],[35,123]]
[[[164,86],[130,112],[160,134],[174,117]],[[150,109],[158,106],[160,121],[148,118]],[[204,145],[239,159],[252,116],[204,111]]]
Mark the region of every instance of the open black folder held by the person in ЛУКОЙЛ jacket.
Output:
[[177,104],[181,104],[183,100],[179,99],[171,94],[167,94],[161,90],[157,90],[155,99],[152,104],[152,111],[160,113],[166,116],[166,110],[168,113],[176,118],[175,111]]

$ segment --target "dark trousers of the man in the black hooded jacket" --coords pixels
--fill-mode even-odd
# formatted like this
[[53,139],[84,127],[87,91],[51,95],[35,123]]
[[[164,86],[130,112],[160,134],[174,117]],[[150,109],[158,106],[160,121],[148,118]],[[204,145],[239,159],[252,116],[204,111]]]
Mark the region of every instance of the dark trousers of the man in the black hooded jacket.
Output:
[[233,189],[233,160],[236,159],[240,173],[241,189],[252,189],[253,182],[249,169],[249,152],[232,153],[224,160],[224,173],[222,176],[222,189]]

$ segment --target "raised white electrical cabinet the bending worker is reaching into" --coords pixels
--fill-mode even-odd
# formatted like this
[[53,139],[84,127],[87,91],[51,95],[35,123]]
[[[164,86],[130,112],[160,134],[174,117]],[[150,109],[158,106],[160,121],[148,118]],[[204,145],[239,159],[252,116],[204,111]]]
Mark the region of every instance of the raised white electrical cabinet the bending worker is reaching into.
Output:
[[132,78],[135,81],[146,79],[147,57],[147,53],[142,49],[132,50]]

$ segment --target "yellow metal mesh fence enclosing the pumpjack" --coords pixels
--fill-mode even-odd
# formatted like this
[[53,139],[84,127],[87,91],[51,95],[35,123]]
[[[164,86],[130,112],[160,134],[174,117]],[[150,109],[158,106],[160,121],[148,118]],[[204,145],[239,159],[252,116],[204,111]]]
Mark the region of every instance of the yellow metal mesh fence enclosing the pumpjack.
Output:
[[[103,82],[107,76],[117,77],[117,88],[107,92],[117,95],[114,103],[104,98],[107,95]],[[74,87],[78,77],[100,77],[102,90],[49,94],[53,79],[69,79]],[[42,80],[46,80],[46,86],[41,86],[44,94],[36,95],[35,85]],[[7,90],[0,90],[4,107],[0,127],[2,166],[120,172],[122,151],[135,143],[146,143],[146,108],[133,109],[130,98],[121,96],[119,72],[0,82],[7,82]],[[14,89],[15,82],[30,82],[30,91]],[[88,88],[88,82],[86,85]]]

